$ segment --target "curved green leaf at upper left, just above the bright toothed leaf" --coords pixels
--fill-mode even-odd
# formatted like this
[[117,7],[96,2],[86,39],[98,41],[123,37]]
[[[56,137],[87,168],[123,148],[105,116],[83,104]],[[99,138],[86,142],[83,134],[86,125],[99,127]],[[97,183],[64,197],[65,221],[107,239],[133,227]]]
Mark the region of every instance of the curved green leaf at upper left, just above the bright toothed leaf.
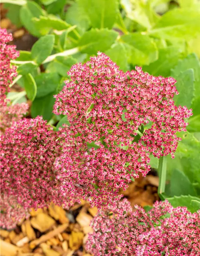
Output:
[[32,18],[39,18],[45,15],[45,11],[36,4],[34,1],[27,1],[24,6],[20,9],[20,20],[24,27],[34,36],[40,37],[41,34],[38,32],[35,24],[32,22]]

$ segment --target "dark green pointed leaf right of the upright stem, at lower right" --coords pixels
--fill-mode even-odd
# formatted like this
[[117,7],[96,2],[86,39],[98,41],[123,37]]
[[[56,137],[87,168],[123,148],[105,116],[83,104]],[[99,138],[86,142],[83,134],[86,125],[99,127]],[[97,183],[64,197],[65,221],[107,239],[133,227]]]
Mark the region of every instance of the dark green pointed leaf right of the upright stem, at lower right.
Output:
[[[179,184],[179,185],[178,185]],[[170,180],[170,196],[188,195],[196,196],[196,191],[188,177],[178,169],[172,172]]]

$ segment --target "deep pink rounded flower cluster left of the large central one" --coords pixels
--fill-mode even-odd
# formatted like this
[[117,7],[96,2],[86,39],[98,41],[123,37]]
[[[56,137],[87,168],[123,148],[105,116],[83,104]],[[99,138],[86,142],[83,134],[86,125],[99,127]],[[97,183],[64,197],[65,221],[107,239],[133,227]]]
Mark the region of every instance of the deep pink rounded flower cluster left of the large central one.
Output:
[[6,128],[0,141],[1,193],[15,197],[24,210],[50,202],[71,206],[76,198],[60,194],[54,170],[62,146],[60,132],[54,132],[42,117],[24,118]]

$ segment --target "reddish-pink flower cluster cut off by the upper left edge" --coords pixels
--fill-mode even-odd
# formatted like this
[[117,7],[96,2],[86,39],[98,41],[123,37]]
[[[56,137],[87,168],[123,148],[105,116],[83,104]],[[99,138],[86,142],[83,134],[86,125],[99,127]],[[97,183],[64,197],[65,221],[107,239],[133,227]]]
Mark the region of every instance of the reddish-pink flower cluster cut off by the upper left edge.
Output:
[[0,28],[0,104],[5,104],[6,92],[9,91],[9,84],[17,75],[16,67],[11,66],[10,60],[19,56],[15,50],[15,45],[7,45],[12,41],[12,34],[8,34],[6,29]]

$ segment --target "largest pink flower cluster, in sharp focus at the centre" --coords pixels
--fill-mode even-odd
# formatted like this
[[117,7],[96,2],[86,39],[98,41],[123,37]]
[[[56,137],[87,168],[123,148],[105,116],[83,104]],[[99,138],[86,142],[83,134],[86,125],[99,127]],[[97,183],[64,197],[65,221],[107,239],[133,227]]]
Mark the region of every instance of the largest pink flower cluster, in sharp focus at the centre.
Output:
[[185,130],[192,110],[174,105],[173,78],[150,76],[138,67],[124,73],[100,52],[72,66],[68,75],[71,81],[54,105],[54,113],[70,122],[55,165],[61,192],[105,206],[120,198],[119,188],[149,172],[150,154],[173,156],[180,140],[176,132]]

